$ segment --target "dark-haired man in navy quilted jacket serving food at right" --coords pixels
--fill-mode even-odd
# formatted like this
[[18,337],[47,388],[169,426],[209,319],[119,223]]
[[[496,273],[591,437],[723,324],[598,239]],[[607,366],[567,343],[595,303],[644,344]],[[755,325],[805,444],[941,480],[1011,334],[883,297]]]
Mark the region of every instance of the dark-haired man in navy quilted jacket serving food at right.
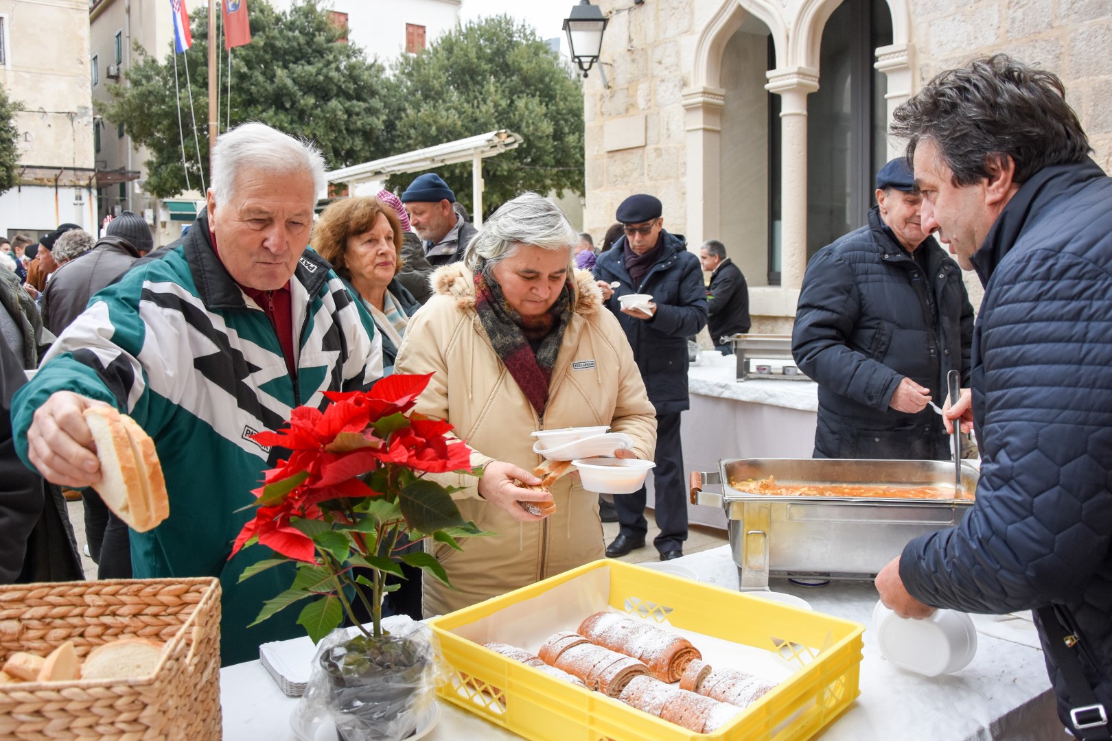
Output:
[[[876,578],[897,613],[1036,615],[1059,715],[1108,739],[1112,714],[1112,179],[1062,82],[996,56],[943,72],[894,114],[937,232],[984,283],[972,394],[949,418],[982,452],[976,503]],[[971,409],[972,401],[972,409]],[[1076,660],[1054,659],[1072,634]],[[1078,665],[1084,689],[1063,667]],[[1069,670],[1068,670],[1069,671]],[[1076,688],[1079,684],[1074,683]],[[1071,710],[1081,710],[1075,722]]]

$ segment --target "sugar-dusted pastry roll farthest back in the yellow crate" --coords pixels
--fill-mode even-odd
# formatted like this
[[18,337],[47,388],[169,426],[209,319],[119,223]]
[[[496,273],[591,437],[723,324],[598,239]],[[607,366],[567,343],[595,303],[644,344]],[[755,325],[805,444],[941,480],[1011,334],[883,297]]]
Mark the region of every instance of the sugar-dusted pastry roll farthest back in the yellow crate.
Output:
[[687,664],[701,659],[691,641],[644,620],[615,612],[596,612],[579,624],[579,635],[644,662],[662,682],[676,682]]

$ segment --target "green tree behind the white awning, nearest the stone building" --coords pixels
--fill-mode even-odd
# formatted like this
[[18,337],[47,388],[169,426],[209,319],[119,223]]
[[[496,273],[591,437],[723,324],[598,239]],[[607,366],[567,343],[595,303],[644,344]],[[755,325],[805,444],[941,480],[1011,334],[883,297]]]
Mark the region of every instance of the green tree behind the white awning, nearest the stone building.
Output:
[[[515,150],[483,161],[487,213],[525,190],[583,193],[583,90],[536,31],[508,16],[457,27],[394,67],[401,113],[393,153],[495,129],[522,134]],[[473,209],[471,166],[437,168]],[[390,179],[404,188],[414,174]]]

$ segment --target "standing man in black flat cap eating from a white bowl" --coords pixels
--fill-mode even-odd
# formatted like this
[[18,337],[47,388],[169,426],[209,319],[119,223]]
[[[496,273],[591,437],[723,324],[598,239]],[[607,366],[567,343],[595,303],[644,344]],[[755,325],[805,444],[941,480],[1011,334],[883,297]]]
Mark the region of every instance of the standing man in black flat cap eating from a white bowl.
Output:
[[[683,555],[687,540],[687,497],[679,442],[679,413],[687,395],[687,338],[706,324],[706,287],[698,258],[687,251],[681,234],[664,230],[661,201],[631,196],[622,201],[617,220],[624,236],[598,256],[595,279],[606,307],[617,316],[656,408],[656,468],[653,470],[656,524],[653,544],[667,561]],[[617,282],[617,288],[610,283]],[[619,297],[652,294],[645,309],[623,308]],[[606,548],[618,558],[645,545],[645,488],[614,498],[620,530]]]

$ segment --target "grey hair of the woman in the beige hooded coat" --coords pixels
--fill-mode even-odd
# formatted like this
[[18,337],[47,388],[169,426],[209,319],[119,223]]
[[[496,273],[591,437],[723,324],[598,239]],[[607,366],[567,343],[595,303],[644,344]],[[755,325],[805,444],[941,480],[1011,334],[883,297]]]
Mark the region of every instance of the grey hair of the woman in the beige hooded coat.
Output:
[[473,271],[483,271],[490,280],[498,262],[514,254],[523,244],[546,250],[568,251],[570,268],[572,249],[579,241],[579,233],[572,228],[559,207],[543,196],[526,191],[506,201],[483,224],[467,246],[464,264]]

